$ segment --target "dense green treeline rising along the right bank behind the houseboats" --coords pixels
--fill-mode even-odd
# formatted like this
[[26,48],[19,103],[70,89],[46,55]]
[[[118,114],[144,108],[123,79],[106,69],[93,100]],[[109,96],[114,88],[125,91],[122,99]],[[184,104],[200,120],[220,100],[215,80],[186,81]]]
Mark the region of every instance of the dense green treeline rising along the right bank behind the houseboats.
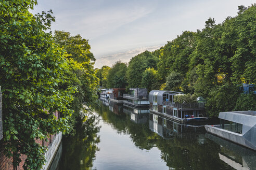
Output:
[[242,94],[239,89],[242,83],[256,83],[255,13],[255,4],[239,6],[238,15],[227,17],[222,24],[209,18],[202,30],[184,31],[160,49],[134,56],[125,67],[122,86],[114,86],[112,79],[119,72],[117,65],[125,64],[103,66],[97,72],[101,82],[105,81],[101,86],[195,94],[207,99],[210,116],[234,109],[256,110],[255,95]]

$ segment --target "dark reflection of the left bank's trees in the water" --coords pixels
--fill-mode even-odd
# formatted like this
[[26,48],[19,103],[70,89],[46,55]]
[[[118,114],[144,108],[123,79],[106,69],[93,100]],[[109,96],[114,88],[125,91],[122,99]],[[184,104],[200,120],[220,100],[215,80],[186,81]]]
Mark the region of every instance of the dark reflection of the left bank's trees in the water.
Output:
[[91,169],[99,148],[98,116],[87,113],[86,120],[78,120],[73,136],[63,137],[60,169]]

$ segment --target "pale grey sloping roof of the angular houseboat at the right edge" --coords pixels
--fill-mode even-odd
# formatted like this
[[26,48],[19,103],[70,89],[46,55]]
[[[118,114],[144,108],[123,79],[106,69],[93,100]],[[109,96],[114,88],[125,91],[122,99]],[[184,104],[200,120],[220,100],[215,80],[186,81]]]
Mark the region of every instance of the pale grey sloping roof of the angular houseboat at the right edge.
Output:
[[240,123],[249,127],[256,125],[256,111],[225,111],[220,112],[220,119]]

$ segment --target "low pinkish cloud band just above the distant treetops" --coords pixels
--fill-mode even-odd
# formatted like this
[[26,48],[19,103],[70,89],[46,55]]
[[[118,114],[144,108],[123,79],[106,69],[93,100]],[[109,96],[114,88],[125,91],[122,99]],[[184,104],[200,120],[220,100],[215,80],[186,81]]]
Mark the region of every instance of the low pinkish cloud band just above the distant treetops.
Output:
[[129,61],[136,56],[139,53],[142,53],[146,50],[148,51],[154,51],[156,49],[159,49],[162,46],[149,46],[149,47],[140,47],[128,51],[123,51],[119,53],[109,54],[109,55],[103,55],[95,62],[95,68],[101,68],[104,65],[112,66],[116,61],[121,61],[124,63],[129,63]]

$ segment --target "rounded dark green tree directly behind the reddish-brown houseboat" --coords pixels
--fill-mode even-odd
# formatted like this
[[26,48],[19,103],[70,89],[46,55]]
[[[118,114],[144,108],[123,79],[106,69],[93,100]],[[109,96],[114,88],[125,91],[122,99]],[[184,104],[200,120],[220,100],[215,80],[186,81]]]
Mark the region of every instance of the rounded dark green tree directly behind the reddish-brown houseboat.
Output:
[[107,74],[107,88],[125,88],[127,82],[125,80],[127,66],[121,61],[117,61],[111,67]]

